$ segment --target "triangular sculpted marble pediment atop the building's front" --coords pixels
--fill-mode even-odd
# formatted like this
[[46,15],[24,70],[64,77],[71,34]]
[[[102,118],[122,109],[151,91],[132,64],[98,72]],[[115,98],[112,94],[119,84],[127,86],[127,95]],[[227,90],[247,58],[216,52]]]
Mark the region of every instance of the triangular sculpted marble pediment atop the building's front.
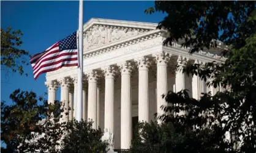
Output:
[[84,49],[95,49],[156,30],[157,24],[134,21],[94,19],[84,25]]

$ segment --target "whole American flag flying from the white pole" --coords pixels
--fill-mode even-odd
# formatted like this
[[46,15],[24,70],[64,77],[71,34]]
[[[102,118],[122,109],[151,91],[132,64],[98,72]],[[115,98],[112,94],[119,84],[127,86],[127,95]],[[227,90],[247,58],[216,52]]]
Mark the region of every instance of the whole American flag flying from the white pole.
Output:
[[77,32],[53,44],[45,51],[31,57],[34,79],[42,73],[55,71],[63,66],[77,66]]

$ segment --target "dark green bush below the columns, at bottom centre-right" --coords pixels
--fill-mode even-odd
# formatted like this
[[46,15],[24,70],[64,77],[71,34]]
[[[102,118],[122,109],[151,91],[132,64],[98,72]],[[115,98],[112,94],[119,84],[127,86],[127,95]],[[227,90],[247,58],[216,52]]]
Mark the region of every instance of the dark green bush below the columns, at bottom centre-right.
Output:
[[[132,140],[131,152],[175,153],[175,152],[226,152],[223,143],[212,143],[214,131],[209,129],[182,129],[172,123],[151,121],[138,123],[136,136]],[[220,141],[221,142],[221,141]]]

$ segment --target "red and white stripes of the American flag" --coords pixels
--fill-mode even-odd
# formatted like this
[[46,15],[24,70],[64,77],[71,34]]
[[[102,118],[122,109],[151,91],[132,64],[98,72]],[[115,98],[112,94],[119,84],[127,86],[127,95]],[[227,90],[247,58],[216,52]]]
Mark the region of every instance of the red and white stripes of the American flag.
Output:
[[33,55],[30,63],[33,68],[34,79],[36,80],[42,73],[55,71],[64,66],[77,66],[77,49],[59,52],[59,42],[57,42],[47,50]]

